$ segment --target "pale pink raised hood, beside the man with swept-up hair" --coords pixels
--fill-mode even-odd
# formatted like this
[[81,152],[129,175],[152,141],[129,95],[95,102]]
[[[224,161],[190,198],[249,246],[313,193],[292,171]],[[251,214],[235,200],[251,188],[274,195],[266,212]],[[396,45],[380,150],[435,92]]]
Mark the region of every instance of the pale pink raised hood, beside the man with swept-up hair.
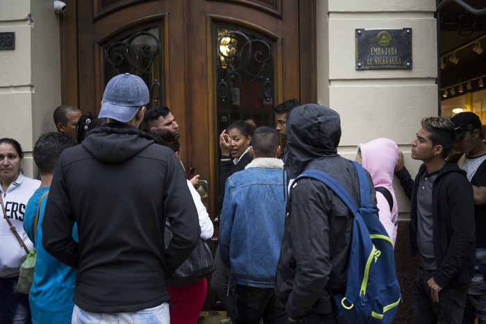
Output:
[[359,147],[361,164],[373,178],[373,185],[391,188],[399,146],[392,139],[378,138]]

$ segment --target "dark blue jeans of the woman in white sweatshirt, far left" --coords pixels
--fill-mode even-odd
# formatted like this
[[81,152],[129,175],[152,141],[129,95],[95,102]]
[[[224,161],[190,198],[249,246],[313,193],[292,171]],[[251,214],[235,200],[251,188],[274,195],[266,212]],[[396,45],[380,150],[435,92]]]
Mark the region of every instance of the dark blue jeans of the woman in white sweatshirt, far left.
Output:
[[28,296],[17,293],[19,277],[0,278],[0,324],[31,323]]

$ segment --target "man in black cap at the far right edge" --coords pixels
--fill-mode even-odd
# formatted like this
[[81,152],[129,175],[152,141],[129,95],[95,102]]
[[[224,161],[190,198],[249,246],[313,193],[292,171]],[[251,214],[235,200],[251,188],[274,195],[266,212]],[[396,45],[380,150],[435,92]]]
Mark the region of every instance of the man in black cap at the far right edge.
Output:
[[474,278],[468,290],[469,303],[464,309],[462,323],[474,323],[475,314],[479,323],[486,323],[486,145],[477,114],[461,112],[451,121],[455,126],[455,151],[460,152],[458,166],[467,172],[467,179],[473,186],[476,221]]

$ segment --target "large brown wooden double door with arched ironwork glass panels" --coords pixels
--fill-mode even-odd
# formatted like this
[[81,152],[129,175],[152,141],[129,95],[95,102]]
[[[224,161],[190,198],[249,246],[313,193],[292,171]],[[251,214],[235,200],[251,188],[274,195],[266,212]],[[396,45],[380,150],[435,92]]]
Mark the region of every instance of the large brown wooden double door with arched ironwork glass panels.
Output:
[[274,105],[315,102],[315,0],[67,0],[62,103],[99,112],[119,73],[140,75],[167,105],[187,169],[208,180],[215,217],[218,136],[232,121],[274,126]]

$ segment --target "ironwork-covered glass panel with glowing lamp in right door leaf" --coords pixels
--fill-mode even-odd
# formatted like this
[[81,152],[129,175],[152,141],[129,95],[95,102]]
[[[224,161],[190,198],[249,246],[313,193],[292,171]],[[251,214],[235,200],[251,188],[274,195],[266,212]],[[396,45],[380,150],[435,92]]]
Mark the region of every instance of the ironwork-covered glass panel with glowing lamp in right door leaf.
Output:
[[215,26],[217,123],[274,125],[274,42],[231,26]]

